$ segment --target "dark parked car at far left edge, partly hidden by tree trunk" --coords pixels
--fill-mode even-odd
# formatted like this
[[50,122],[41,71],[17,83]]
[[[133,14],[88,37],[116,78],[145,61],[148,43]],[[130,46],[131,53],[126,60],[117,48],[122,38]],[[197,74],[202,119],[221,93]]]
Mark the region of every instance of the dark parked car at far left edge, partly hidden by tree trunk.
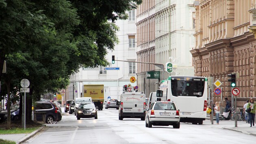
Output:
[[[10,106],[11,120],[18,120],[20,113],[20,103]],[[0,111],[0,122],[7,120],[7,110]]]

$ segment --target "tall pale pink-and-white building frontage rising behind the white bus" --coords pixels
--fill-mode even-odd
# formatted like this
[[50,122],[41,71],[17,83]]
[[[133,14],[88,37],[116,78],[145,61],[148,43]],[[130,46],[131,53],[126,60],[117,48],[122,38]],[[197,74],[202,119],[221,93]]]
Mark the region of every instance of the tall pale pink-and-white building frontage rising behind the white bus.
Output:
[[[194,0],[145,0],[137,8],[137,60],[174,66],[171,74],[163,67],[138,64],[138,86],[146,95],[156,91],[170,75],[194,75]],[[165,66],[164,66],[165,67]],[[147,72],[160,71],[159,79],[147,79]]]

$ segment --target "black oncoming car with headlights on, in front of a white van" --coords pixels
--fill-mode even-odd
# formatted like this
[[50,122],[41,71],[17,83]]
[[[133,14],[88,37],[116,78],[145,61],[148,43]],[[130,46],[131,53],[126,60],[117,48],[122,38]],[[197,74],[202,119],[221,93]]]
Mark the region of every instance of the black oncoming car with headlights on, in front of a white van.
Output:
[[76,118],[93,118],[98,119],[96,107],[93,103],[82,103],[78,104]]

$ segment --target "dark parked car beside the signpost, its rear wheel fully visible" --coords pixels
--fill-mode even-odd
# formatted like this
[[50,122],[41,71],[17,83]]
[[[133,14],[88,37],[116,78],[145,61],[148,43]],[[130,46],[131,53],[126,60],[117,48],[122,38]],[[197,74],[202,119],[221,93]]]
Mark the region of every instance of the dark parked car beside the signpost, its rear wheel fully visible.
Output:
[[43,115],[45,115],[45,122],[48,124],[56,123],[62,119],[61,112],[53,102],[35,102],[35,111],[37,121],[43,121]]

